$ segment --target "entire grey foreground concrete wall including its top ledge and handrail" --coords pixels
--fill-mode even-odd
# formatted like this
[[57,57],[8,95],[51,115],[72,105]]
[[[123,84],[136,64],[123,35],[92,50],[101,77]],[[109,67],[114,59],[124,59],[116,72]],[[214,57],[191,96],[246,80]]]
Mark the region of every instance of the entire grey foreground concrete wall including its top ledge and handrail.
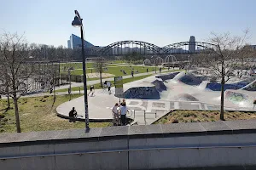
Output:
[[256,165],[255,129],[240,121],[3,134],[0,169],[247,167]]

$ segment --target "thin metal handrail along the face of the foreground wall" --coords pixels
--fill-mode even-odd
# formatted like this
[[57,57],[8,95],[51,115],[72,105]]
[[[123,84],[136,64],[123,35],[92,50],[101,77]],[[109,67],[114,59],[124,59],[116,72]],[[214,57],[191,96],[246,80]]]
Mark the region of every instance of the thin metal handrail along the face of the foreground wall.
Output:
[[220,146],[184,146],[184,147],[164,147],[164,148],[138,148],[138,149],[127,149],[127,150],[102,150],[102,151],[82,151],[82,152],[67,152],[67,153],[55,153],[55,154],[42,154],[42,155],[28,155],[28,156],[5,156],[0,157],[0,160],[9,160],[9,159],[19,159],[19,158],[31,158],[31,157],[46,157],[46,156],[70,156],[70,155],[79,155],[82,156],[84,154],[98,154],[98,153],[114,153],[114,152],[129,152],[129,151],[144,151],[144,150],[185,150],[185,149],[194,149],[194,150],[202,150],[202,149],[216,149],[216,148],[253,148],[256,147],[256,144],[252,145],[220,145]]

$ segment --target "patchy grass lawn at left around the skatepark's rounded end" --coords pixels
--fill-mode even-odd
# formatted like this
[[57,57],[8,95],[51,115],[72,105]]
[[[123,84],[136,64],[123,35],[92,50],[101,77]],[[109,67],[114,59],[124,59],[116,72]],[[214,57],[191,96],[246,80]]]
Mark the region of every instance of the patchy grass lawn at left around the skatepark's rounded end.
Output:
[[[78,98],[79,94],[73,94],[72,99]],[[56,96],[53,105],[53,96],[36,98],[20,98],[20,127],[21,132],[49,131],[72,128],[84,128],[84,122],[68,122],[67,119],[56,116],[56,107],[69,100],[69,95]],[[6,99],[0,100],[0,133],[15,133],[15,109],[4,113]],[[12,104],[11,107],[14,107]],[[90,127],[108,127],[109,122],[90,122]]]

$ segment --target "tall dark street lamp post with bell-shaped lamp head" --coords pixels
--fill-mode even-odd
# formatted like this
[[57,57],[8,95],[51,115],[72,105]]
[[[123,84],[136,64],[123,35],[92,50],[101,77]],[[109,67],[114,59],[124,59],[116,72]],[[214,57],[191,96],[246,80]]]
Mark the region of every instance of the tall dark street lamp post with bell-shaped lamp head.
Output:
[[82,40],[82,59],[83,59],[83,76],[84,76],[84,109],[85,109],[85,127],[89,130],[89,114],[88,114],[88,99],[87,99],[87,84],[86,84],[86,70],[85,70],[85,54],[84,54],[84,27],[83,22],[80,18],[79,12],[75,10],[76,16],[72,22],[72,26],[80,27],[81,40]]

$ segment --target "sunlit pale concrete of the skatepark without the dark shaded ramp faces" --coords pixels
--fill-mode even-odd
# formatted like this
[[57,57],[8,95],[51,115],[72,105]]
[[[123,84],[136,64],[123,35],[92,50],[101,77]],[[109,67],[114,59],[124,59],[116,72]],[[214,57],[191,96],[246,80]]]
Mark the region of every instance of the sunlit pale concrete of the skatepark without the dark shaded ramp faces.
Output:
[[[166,73],[173,74],[173,73]],[[163,77],[164,75],[162,75]],[[143,91],[139,88],[149,87],[156,88],[160,99],[126,99],[129,109],[136,111],[133,118],[137,124],[151,124],[161,116],[166,115],[172,110],[220,110],[220,92],[212,91],[206,88],[206,81],[201,81],[198,86],[191,86],[181,82],[184,77],[189,77],[184,72],[180,72],[172,79],[162,81],[159,76],[147,77],[135,82],[124,84],[124,92],[127,93],[133,88],[131,93],[138,93],[137,96],[146,97],[152,95],[151,91]],[[158,78],[156,78],[158,77]],[[195,77],[195,76],[193,76]],[[152,82],[155,82],[154,84]],[[77,92],[73,92],[77,93]],[[149,93],[149,94],[147,94]],[[128,95],[127,95],[128,96]],[[130,95],[131,97],[133,95]],[[226,90],[224,95],[225,111],[253,111],[253,99],[256,99],[255,91]],[[115,103],[119,103],[119,98],[114,96],[114,88],[112,94],[108,94],[107,89],[95,90],[94,96],[89,96],[89,116],[90,119],[111,119],[112,107]],[[57,108],[58,114],[68,116],[68,112],[75,107],[82,119],[84,119],[84,97],[68,101]],[[256,108],[254,108],[256,110]],[[144,111],[146,115],[144,115]]]

